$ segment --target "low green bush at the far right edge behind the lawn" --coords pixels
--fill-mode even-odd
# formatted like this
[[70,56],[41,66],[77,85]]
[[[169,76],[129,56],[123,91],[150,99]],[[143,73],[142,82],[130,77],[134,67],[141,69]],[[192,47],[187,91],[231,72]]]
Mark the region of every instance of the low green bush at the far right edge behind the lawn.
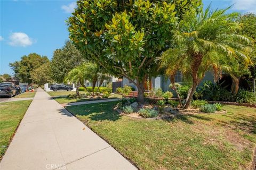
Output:
[[236,102],[238,103],[256,103],[256,97],[253,92],[240,89],[236,96]]

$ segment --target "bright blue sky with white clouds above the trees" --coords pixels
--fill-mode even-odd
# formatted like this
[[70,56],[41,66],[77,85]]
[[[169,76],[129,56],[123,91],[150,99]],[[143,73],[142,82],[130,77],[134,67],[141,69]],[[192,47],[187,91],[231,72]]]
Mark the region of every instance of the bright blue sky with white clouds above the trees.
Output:
[[[212,8],[235,4],[231,11],[256,12],[256,0],[205,1]],[[68,39],[65,20],[75,1],[0,1],[0,74],[12,74],[10,62],[37,53],[52,58],[53,51]]]

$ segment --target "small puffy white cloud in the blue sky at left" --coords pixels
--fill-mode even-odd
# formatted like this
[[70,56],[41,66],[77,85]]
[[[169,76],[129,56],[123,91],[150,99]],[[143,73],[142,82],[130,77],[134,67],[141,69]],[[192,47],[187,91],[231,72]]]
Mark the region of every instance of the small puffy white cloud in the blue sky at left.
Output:
[[33,39],[29,38],[28,35],[26,35],[26,33],[23,32],[13,32],[9,39],[9,45],[11,46],[26,47],[34,43]]

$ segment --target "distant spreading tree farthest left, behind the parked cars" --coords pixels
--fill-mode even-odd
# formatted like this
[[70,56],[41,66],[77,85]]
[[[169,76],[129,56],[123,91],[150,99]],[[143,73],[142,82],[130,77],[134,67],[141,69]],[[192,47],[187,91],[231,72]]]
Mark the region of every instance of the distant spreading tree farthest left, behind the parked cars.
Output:
[[30,53],[28,56],[22,56],[21,61],[15,61],[9,65],[15,77],[18,77],[21,82],[32,83],[31,72],[47,62],[49,59],[46,56]]

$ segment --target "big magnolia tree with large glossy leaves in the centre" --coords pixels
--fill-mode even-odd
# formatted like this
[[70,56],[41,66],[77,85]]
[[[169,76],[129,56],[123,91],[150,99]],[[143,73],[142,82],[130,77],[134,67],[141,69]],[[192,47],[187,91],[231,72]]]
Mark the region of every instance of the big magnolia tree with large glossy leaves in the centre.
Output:
[[167,48],[180,8],[198,1],[78,1],[68,19],[69,37],[109,73],[123,76],[138,88],[156,67],[155,58]]

